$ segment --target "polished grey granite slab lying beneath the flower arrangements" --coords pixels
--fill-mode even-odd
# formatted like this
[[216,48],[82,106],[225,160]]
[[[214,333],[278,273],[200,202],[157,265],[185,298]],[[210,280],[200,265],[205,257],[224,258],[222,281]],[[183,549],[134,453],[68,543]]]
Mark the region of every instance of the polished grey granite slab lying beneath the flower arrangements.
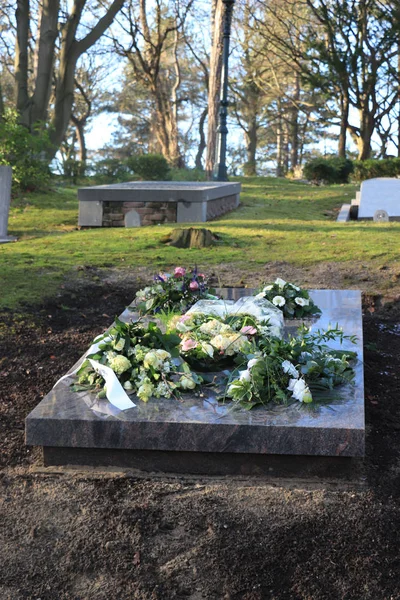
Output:
[[[234,289],[232,299],[247,295]],[[89,393],[74,393],[71,380],[53,389],[26,419],[29,445],[58,448],[215,452],[262,455],[362,456],[364,454],[364,383],[361,294],[354,290],[317,290],[311,296],[322,316],[314,329],[339,323],[358,337],[354,386],[332,393],[326,404],[232,410],[212,390],[183,401],[151,399],[119,411]],[[126,310],[123,317],[132,314]],[[82,459],[84,460],[84,459]]]

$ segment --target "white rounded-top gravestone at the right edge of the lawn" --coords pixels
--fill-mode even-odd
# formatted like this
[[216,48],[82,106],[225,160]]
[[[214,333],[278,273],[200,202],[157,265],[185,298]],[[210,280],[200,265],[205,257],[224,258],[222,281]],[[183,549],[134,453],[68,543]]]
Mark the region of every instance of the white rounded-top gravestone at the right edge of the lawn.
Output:
[[400,179],[377,177],[362,182],[358,218],[373,219],[377,211],[400,220]]

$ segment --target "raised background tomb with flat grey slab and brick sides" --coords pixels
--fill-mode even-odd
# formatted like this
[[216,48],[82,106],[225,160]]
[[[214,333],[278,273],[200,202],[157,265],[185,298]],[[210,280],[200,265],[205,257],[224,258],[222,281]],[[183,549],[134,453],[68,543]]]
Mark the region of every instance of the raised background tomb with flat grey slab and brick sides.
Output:
[[128,207],[142,217],[147,215],[147,220],[149,214],[158,215],[162,208],[160,222],[202,223],[237,208],[240,190],[240,183],[215,181],[131,181],[80,188],[78,223],[81,227],[106,226],[104,205],[109,203],[115,203],[116,210],[121,211],[121,218],[115,218],[113,226],[119,222],[123,226]]

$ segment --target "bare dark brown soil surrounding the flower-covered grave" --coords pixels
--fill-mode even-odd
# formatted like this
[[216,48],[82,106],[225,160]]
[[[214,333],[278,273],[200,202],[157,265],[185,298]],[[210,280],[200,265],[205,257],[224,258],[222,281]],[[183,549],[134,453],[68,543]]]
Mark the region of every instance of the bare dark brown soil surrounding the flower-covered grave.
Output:
[[[291,271],[269,267],[306,279]],[[306,283],[357,287],[338,271],[328,265]],[[382,283],[395,277],[385,271]],[[228,269],[219,275],[240,283]],[[360,285],[365,478],[40,469],[38,450],[24,446],[25,416],[146,276],[88,271],[43,306],[0,315],[0,600],[400,598],[400,301],[372,293],[369,282]]]

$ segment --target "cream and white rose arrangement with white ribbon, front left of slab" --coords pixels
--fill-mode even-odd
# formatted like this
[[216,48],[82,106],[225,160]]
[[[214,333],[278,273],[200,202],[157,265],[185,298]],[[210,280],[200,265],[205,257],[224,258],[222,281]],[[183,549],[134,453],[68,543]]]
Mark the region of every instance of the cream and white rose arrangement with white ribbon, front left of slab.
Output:
[[112,369],[127,393],[135,393],[143,402],[151,396],[169,398],[179,391],[193,390],[201,378],[179,358],[181,339],[164,334],[155,323],[123,323],[116,319],[98,342],[98,350],[89,354],[77,373],[75,391],[95,390],[106,395],[105,381],[89,359]]

